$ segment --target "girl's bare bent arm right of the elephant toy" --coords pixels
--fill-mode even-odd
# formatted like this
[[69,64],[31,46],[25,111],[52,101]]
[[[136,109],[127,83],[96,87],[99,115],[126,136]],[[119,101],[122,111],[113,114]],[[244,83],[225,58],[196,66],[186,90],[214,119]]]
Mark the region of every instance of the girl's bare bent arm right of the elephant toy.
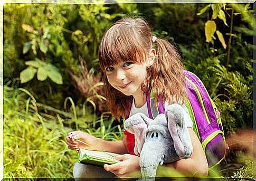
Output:
[[193,145],[191,158],[180,159],[174,163],[165,164],[165,166],[172,167],[188,176],[207,176],[208,163],[201,142],[192,128],[187,127],[187,129]]

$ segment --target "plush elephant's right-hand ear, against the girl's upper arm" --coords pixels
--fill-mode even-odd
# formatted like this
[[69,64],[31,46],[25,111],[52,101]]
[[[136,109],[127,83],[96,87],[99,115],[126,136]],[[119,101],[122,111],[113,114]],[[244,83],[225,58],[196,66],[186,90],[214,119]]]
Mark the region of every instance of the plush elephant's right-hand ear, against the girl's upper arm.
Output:
[[192,154],[192,142],[185,126],[185,110],[179,104],[172,104],[165,110],[170,136],[173,138],[176,154],[180,158],[188,158]]

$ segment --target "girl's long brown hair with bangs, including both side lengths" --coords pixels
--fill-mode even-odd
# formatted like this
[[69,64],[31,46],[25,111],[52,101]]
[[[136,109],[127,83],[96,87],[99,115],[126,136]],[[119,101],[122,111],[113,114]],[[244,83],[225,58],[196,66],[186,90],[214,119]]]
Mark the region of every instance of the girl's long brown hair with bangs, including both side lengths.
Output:
[[108,28],[98,52],[107,104],[116,118],[129,113],[132,96],[126,96],[109,84],[106,68],[126,61],[143,63],[153,47],[156,49],[155,61],[147,68],[147,78],[141,89],[145,93],[149,87],[154,90],[156,106],[161,97],[169,104],[184,102],[185,75],[181,57],[175,47],[162,39],[153,42],[150,27],[143,18],[125,17]]

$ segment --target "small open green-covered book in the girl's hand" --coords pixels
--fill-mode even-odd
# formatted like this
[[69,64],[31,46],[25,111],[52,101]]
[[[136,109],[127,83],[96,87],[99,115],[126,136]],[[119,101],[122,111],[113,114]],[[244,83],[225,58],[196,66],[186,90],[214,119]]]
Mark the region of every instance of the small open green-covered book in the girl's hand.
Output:
[[116,155],[118,154],[104,151],[79,149],[78,162],[81,164],[89,164],[95,166],[103,166],[104,164],[116,164],[119,162],[119,160],[114,159]]

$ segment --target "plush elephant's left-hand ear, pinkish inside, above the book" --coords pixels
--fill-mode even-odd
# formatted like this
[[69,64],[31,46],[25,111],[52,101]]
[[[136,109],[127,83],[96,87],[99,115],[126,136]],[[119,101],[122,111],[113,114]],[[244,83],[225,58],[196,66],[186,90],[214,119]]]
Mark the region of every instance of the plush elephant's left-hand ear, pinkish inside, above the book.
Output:
[[136,155],[140,154],[143,147],[146,129],[150,121],[151,119],[146,117],[143,113],[136,113],[125,121],[124,128],[135,135],[134,153]]

